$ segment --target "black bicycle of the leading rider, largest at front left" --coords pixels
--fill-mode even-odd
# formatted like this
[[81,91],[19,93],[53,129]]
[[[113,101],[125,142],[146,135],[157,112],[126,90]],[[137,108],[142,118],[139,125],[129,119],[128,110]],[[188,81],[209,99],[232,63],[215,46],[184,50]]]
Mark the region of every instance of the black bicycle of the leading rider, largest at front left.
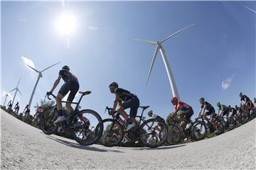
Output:
[[[68,119],[61,123],[54,124],[54,121],[58,117],[57,105],[48,106],[48,108],[41,113],[41,130],[46,135],[51,135],[54,132],[58,132],[60,134],[65,132],[70,133],[73,135],[75,141],[80,145],[92,145],[97,143],[102,136],[102,118],[97,112],[90,109],[84,109],[82,111],[79,111],[78,109],[82,97],[90,93],[91,91],[79,91],[79,94],[82,94],[82,96],[80,97],[78,103],[62,101],[62,103],[76,104],[76,107],[74,113],[69,116],[67,115]],[[53,94],[46,96],[49,100],[51,100],[49,96],[56,98],[56,96]]]

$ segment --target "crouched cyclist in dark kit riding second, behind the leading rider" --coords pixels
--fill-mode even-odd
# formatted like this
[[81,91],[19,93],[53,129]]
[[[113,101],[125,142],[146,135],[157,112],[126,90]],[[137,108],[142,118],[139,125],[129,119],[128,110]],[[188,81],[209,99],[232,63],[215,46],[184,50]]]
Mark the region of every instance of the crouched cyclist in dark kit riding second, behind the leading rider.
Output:
[[[109,86],[110,92],[115,94],[114,98],[114,106],[112,108],[111,113],[114,114],[117,108],[117,104],[119,105],[118,113],[120,113],[124,119],[127,121],[127,125],[125,130],[128,131],[131,128],[136,126],[135,117],[137,115],[137,111],[139,108],[139,98],[135,94],[132,94],[130,91],[121,89],[118,87],[116,82],[112,82]],[[130,108],[129,117],[127,113],[125,113],[125,109]]]

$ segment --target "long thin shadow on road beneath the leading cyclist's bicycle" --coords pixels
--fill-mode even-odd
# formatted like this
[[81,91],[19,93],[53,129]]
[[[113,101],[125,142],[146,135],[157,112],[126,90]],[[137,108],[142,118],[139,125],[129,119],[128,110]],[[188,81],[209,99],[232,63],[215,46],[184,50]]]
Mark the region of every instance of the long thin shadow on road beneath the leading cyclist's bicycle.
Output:
[[122,151],[114,150],[114,149],[100,149],[100,148],[97,148],[97,147],[83,146],[83,145],[79,145],[75,142],[60,140],[60,139],[58,139],[56,137],[53,137],[53,136],[46,136],[46,137],[48,137],[50,140],[55,140],[56,142],[59,142],[63,145],[67,145],[68,147],[74,147],[74,148],[78,148],[78,149],[85,149],[85,150],[90,150],[90,151],[95,151],[95,152],[119,152],[119,153],[122,153]]

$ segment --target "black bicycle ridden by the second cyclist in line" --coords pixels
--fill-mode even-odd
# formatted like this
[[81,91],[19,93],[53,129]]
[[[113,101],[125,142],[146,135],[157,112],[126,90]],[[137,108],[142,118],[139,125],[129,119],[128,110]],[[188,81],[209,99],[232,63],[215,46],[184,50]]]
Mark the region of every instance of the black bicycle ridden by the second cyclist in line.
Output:
[[145,120],[143,113],[149,106],[139,106],[139,108],[142,108],[142,114],[136,116],[139,118],[139,123],[128,132],[124,132],[126,123],[120,118],[120,114],[116,112],[112,115],[112,108],[106,107],[105,111],[108,111],[112,118],[103,120],[105,130],[100,143],[106,147],[114,147],[124,141],[124,137],[127,137],[130,143],[140,141],[146,147],[156,148],[163,145],[167,137],[165,123],[157,118]]

